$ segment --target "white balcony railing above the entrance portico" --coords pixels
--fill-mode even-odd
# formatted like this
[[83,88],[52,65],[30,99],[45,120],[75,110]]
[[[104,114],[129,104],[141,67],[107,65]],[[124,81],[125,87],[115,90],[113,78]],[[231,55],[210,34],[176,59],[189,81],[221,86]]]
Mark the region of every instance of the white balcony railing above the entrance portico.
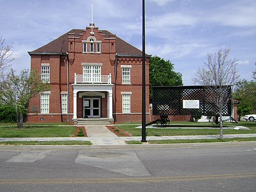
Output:
[[100,74],[76,74],[74,73],[74,84],[77,83],[103,83],[111,84],[111,73],[109,75],[100,75]]

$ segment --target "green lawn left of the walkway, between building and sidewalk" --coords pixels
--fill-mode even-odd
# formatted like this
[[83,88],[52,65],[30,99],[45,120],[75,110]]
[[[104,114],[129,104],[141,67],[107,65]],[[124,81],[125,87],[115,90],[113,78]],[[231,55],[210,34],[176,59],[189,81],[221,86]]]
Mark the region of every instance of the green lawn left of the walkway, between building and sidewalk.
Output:
[[75,126],[25,125],[22,129],[0,126],[0,137],[70,137]]

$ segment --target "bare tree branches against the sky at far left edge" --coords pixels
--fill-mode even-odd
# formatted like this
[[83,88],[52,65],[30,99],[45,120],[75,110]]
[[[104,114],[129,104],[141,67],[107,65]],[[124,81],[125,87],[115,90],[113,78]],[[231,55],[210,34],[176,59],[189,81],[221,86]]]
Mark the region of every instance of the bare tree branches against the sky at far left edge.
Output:
[[5,39],[0,36],[0,72],[6,67],[9,67],[10,62],[13,61],[13,59],[10,58],[12,55],[10,51],[11,48],[12,45],[5,45]]

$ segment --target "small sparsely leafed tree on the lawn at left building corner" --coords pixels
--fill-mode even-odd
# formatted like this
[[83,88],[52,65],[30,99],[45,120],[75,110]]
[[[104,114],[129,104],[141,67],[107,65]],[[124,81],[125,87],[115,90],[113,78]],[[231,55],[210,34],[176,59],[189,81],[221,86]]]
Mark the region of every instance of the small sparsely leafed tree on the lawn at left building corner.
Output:
[[40,74],[34,70],[22,70],[16,75],[13,69],[6,75],[1,75],[0,95],[1,102],[13,106],[16,110],[17,127],[23,127],[23,111],[29,106],[29,99],[36,94],[48,91],[49,85],[42,83]]

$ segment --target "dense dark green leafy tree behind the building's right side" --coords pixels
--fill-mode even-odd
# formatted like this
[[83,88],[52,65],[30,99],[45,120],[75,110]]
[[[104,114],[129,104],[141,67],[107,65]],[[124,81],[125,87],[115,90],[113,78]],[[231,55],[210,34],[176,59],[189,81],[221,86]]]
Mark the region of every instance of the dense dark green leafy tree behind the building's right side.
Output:
[[182,74],[174,72],[174,64],[158,56],[150,58],[150,101],[152,86],[182,86]]

